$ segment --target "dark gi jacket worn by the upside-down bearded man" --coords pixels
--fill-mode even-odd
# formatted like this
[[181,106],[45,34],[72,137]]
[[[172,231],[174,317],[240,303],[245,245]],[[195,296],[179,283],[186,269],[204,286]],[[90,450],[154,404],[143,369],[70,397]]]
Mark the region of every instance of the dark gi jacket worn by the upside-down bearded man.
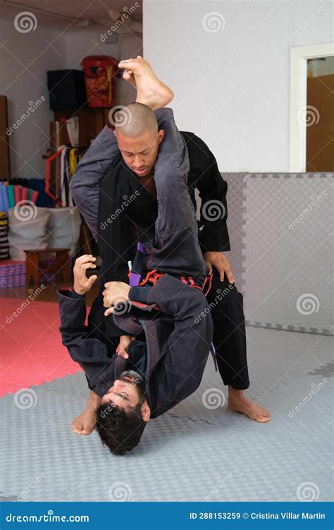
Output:
[[[138,354],[146,355],[146,393],[154,418],[190,396],[199,386],[209,355],[213,324],[202,292],[185,286],[179,279],[163,275],[154,287],[142,291],[148,293],[145,298],[138,300],[138,295],[136,298],[147,304],[147,311],[132,308],[123,315],[113,314],[123,333],[144,332],[143,341],[136,339],[130,344],[129,359],[117,356],[112,346],[92,337],[85,326],[85,297],[74,298],[71,289],[64,287],[58,289],[60,330],[70,356],[85,370],[89,388],[99,396],[106,394],[120,373],[134,369],[132,354],[136,358]],[[132,289],[130,299],[131,292]],[[154,309],[155,304],[161,311]],[[204,316],[199,319],[201,314]]]

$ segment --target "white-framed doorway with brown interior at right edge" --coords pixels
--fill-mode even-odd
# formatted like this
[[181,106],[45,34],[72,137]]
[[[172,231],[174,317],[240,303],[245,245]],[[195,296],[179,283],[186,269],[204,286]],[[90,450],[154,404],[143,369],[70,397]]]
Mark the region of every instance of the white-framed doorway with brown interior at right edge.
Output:
[[334,43],[290,49],[290,172],[334,171]]

